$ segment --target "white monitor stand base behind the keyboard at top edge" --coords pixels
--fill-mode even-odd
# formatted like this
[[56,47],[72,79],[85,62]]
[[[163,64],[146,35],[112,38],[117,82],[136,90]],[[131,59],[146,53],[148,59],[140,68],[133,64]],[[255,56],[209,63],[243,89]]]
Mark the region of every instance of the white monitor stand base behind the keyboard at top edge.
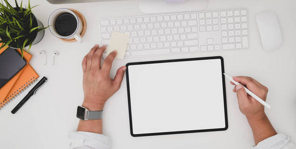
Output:
[[208,0],[140,0],[139,7],[144,13],[166,13],[203,10]]

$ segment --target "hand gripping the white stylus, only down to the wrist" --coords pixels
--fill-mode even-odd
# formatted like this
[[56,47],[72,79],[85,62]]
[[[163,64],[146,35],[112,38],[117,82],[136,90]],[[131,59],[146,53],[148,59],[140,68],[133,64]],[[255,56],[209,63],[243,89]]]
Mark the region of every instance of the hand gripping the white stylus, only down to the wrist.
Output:
[[[248,76],[234,76],[233,79],[246,86],[250,91],[255,93],[262,100],[266,101],[268,88],[252,77]],[[233,82],[231,82],[235,85]],[[264,112],[264,105],[247,94],[242,85],[236,85],[233,91],[237,93],[239,108],[241,112],[246,115],[248,120],[260,120],[266,117]]]

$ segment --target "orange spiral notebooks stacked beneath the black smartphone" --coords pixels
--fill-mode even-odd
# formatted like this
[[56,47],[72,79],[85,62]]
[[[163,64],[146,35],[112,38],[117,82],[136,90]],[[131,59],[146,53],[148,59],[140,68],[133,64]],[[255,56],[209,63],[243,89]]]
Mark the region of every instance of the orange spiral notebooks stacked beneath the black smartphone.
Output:
[[[4,51],[0,49],[0,53]],[[20,53],[20,50],[17,50]],[[32,56],[23,52],[23,58],[29,62]],[[36,81],[39,75],[27,63],[27,65],[14,75],[4,86],[0,88],[0,108],[5,106],[8,102],[14,99],[19,93],[24,91],[28,86]]]

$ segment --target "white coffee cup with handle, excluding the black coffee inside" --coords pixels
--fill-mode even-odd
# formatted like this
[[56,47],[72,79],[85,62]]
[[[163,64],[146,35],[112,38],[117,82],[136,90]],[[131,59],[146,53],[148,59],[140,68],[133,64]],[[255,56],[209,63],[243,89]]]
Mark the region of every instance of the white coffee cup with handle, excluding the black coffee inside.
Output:
[[[75,18],[76,18],[76,21],[77,21],[77,27],[76,27],[76,30],[74,33],[72,33],[71,35],[69,36],[61,36],[60,34],[57,33],[56,29],[55,29],[55,20],[57,19],[58,16],[60,16],[61,14],[63,13],[70,13],[72,14]],[[81,33],[81,30],[82,30],[82,21],[81,19],[75,14],[75,12],[73,12],[72,10],[70,9],[67,9],[67,8],[59,8],[59,9],[56,9],[54,10],[49,18],[48,18],[48,25],[49,26],[49,30],[51,31],[51,33],[58,37],[58,38],[61,38],[61,39],[76,39],[77,41],[79,42],[82,42],[83,39],[82,37],[80,36],[80,33]]]

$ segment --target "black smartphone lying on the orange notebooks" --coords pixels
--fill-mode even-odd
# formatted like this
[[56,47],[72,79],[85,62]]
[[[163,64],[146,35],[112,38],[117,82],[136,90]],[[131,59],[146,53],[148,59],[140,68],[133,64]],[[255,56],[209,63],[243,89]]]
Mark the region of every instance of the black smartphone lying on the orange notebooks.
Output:
[[0,88],[17,74],[27,62],[12,48],[7,48],[0,54]]

